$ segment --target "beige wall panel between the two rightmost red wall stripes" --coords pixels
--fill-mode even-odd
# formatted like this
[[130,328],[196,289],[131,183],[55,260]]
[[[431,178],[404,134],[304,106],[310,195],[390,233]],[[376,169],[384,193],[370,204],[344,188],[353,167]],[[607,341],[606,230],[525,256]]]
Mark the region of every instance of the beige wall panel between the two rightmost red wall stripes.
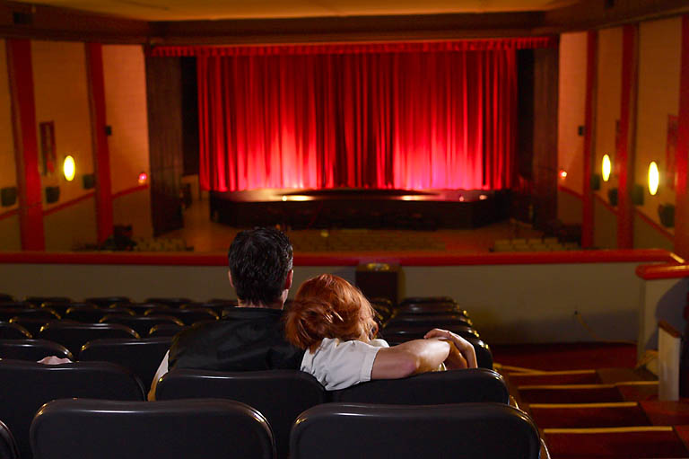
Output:
[[[638,206],[645,216],[660,225],[658,205],[675,204],[675,191],[670,188],[674,177],[667,177],[667,118],[679,110],[679,68],[681,55],[681,18],[642,22],[639,28],[639,96],[636,128],[636,183],[644,188],[644,203]],[[651,161],[658,163],[661,182],[658,194],[648,189]],[[668,228],[673,233],[674,229]],[[655,230],[654,230],[655,232]],[[650,241],[639,240],[634,247],[647,247]]]

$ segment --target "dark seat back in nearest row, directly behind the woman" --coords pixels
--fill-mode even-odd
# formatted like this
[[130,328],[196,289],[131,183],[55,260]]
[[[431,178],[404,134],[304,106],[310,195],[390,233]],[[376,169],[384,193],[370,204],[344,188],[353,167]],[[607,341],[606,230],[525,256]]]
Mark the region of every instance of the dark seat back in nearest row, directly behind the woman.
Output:
[[294,423],[290,458],[538,459],[539,442],[533,421],[501,403],[326,403]]

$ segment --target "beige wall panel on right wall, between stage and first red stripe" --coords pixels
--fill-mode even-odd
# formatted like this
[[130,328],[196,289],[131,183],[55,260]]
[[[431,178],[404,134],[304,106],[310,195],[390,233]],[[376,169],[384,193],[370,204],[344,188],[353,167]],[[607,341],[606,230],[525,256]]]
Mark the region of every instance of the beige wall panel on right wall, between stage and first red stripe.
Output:
[[[586,32],[560,37],[557,163],[567,177],[558,181],[580,194],[584,186],[584,137],[579,135],[579,127],[584,125],[586,102],[586,39]],[[559,207],[558,217],[563,220]]]

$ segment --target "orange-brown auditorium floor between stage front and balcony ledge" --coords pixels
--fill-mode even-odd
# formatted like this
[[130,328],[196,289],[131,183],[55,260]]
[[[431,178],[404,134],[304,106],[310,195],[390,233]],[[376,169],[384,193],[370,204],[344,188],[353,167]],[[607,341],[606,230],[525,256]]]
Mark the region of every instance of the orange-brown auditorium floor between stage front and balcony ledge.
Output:
[[[161,237],[184,239],[194,252],[227,252],[235,234],[233,228],[211,221],[207,200],[194,201],[184,211],[184,228]],[[497,239],[541,237],[542,232],[510,221],[476,229],[437,231],[338,229],[287,231],[295,252],[405,252],[467,254],[489,252]]]

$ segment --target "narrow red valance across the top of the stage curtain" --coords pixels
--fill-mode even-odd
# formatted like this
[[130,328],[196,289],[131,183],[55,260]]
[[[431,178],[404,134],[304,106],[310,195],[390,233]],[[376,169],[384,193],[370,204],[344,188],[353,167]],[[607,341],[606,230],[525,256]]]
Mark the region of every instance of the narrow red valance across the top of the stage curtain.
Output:
[[153,57],[300,56],[536,49],[554,48],[557,44],[557,36],[545,36],[490,40],[333,43],[317,45],[154,46],[148,50],[148,53]]

